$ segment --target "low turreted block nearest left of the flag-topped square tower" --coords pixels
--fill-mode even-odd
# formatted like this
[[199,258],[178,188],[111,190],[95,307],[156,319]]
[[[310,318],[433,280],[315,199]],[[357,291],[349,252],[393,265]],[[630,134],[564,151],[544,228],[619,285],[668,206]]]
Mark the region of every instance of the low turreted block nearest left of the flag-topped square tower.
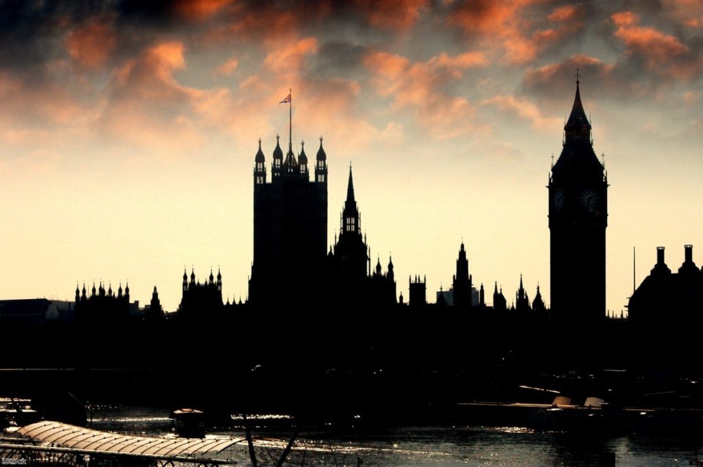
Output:
[[[217,282],[210,275],[206,282],[200,284],[195,280],[195,269],[191,270],[191,281],[188,282],[186,270],[183,270],[183,296],[178,308],[179,316],[186,321],[207,322],[218,317],[224,310],[222,303],[222,275],[217,271]],[[211,324],[214,324],[211,322]]]

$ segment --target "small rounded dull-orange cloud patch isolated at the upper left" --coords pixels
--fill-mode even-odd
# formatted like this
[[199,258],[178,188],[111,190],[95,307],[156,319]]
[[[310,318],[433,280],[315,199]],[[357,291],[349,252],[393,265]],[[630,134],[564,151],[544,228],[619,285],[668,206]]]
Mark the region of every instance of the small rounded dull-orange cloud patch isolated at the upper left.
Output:
[[115,32],[103,22],[74,29],[66,39],[71,57],[84,68],[95,70],[103,65],[117,44]]

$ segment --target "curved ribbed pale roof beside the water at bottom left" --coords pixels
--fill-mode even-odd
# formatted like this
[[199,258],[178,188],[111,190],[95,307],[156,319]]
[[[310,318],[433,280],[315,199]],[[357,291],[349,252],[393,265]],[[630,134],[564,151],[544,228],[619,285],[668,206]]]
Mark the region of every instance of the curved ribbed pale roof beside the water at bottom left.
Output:
[[20,428],[18,433],[35,442],[68,449],[82,449],[104,454],[130,454],[133,456],[207,456],[217,454],[226,447],[245,441],[245,438],[146,438],[118,435],[67,425],[58,421],[40,421]]

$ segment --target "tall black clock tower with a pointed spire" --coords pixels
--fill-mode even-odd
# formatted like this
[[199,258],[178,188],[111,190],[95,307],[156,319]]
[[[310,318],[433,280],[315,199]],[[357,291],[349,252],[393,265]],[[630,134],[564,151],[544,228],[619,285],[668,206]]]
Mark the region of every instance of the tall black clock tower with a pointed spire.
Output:
[[605,318],[607,173],[593,151],[591,124],[576,96],[562,152],[549,177],[551,309],[577,324]]

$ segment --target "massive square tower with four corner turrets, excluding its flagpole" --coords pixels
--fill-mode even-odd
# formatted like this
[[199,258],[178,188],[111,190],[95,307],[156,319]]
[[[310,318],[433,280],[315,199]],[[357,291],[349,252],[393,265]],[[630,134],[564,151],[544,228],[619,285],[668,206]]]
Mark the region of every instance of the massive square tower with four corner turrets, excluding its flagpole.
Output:
[[[259,140],[254,157],[254,261],[249,300],[255,305],[301,301],[325,268],[327,245],[327,154],[318,149],[309,179],[304,143],[296,159],[292,142],[283,159],[276,136],[271,181]],[[304,297],[304,298],[303,298]]]

